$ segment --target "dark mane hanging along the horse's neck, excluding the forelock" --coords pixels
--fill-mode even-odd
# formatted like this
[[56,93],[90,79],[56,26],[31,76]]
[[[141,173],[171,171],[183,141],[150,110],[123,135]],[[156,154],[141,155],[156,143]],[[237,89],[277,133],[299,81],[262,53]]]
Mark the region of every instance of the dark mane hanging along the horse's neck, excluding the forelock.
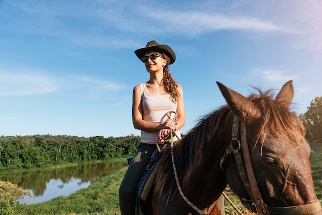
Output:
[[[231,120],[229,120],[229,116]],[[208,171],[198,168],[201,166],[201,163],[207,159],[205,156],[209,156],[207,151],[213,151],[210,155],[211,157],[221,158],[222,150],[219,150],[221,144],[217,144],[217,142],[223,142],[226,140],[226,127],[231,128],[232,117],[233,114],[231,109],[229,106],[225,105],[222,108],[200,118],[196,126],[191,129],[180,142],[174,145],[174,159],[179,177],[178,180],[182,185],[182,188],[189,186],[188,184],[191,183],[191,179],[198,180],[194,175],[196,172],[202,173],[203,171]],[[217,139],[215,137],[217,137]],[[214,142],[214,139],[216,139],[217,142]],[[216,148],[218,150],[213,150]],[[171,160],[171,151],[169,149],[163,153],[164,154],[162,155],[156,169],[156,171],[161,172],[163,178],[159,178],[155,181],[154,191],[158,192],[158,196],[160,196],[160,193],[163,192],[165,187],[169,187],[168,192],[164,195],[164,198],[167,199],[168,202],[171,200],[170,196],[174,198],[174,195],[177,192],[177,186],[175,180],[173,180],[174,171]],[[190,181],[188,182],[187,180]],[[187,192],[185,192],[185,194],[186,193]]]

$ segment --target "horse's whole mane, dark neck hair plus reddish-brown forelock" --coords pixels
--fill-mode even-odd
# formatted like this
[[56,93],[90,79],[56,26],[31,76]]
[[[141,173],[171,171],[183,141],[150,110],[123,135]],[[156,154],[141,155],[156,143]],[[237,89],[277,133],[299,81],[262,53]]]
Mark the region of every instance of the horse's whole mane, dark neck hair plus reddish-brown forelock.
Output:
[[[292,143],[299,142],[298,138],[300,138],[302,140],[300,142],[303,142],[305,129],[295,114],[290,112],[289,108],[285,108],[283,101],[273,99],[272,89],[264,93],[260,89],[257,90],[258,94],[251,94],[248,97],[261,113],[261,118],[256,121],[260,126],[254,140],[255,145],[259,140],[264,144],[267,135],[281,136]],[[234,113],[230,107],[228,105],[222,106],[203,116],[196,126],[178,144],[174,145],[173,153],[178,180],[187,196],[190,191],[189,184],[201,186],[198,185],[200,184],[198,183],[198,175],[209,172],[209,168],[202,169],[200,167],[215,166],[213,164],[220,163],[224,150],[230,144],[233,117]],[[250,121],[246,119],[248,122],[252,120],[254,121],[254,119]],[[166,192],[163,193],[163,198],[169,202],[177,193],[177,185],[174,180],[171,150],[166,150],[163,153],[156,169],[162,177],[156,178],[154,192],[158,196]],[[210,160],[211,163],[201,165],[205,160]],[[211,168],[217,168],[217,174],[219,176],[222,174],[224,177],[224,172],[220,170],[219,165]]]

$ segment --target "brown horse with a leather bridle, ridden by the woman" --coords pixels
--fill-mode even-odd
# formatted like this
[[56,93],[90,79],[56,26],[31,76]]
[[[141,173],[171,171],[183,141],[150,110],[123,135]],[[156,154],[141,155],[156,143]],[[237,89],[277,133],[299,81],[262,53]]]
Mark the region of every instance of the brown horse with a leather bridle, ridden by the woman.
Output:
[[[163,152],[153,189],[143,203],[144,214],[198,214],[178,191],[171,151],[183,194],[205,214],[220,214],[216,201],[227,184],[248,209],[259,214],[322,214],[313,187],[305,131],[289,111],[292,81],[285,83],[274,99],[272,90],[258,89],[258,95],[246,98],[217,84],[228,105],[201,119],[172,150]],[[250,158],[249,162],[244,158],[242,166],[251,163],[262,198],[255,198],[255,202],[253,188],[249,191],[240,176],[238,159],[226,151],[236,145],[231,137],[235,116],[240,118],[237,143],[243,141],[244,134],[249,149],[240,150],[249,151]],[[254,211],[252,205],[264,209]]]

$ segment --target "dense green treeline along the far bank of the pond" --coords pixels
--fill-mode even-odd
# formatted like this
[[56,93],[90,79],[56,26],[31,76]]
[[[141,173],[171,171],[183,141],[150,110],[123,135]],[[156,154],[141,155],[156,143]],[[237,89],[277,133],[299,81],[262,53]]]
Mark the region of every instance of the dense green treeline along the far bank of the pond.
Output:
[[90,138],[76,136],[0,137],[0,171],[133,156],[139,136]]

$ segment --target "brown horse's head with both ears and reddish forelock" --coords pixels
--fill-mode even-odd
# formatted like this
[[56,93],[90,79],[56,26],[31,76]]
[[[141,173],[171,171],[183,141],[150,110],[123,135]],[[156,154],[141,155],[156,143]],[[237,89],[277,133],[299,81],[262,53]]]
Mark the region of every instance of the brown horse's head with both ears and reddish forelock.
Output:
[[[217,84],[244,127],[245,131],[241,133],[246,133],[244,140],[265,209],[271,214],[322,214],[313,187],[310,147],[304,138],[305,131],[289,111],[294,94],[292,81],[285,83],[274,99],[272,91],[259,91],[259,95],[246,98]],[[242,147],[242,150],[245,149]],[[237,158],[228,157],[225,171],[229,186],[240,199],[254,201],[254,194],[249,190],[253,188],[248,186],[247,191],[247,186],[236,174],[240,172],[236,163]]]

